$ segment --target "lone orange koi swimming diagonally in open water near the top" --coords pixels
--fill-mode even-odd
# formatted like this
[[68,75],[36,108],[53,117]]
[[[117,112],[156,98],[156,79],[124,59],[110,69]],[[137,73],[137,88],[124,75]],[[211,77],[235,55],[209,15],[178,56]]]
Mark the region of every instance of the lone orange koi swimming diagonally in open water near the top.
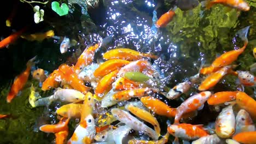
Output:
[[167,13],[163,14],[158,21],[156,21],[156,27],[166,27],[167,24],[173,19],[175,12],[173,10],[167,11]]

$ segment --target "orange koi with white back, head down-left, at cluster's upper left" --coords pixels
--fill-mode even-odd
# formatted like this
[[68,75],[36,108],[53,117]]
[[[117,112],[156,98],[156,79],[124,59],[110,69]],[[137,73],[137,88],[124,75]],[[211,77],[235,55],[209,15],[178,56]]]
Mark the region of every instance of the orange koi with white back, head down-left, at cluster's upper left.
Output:
[[90,65],[94,60],[95,51],[98,49],[98,44],[94,46],[90,46],[83,51],[83,53],[79,56],[77,63],[74,66],[75,73],[79,74],[84,67]]

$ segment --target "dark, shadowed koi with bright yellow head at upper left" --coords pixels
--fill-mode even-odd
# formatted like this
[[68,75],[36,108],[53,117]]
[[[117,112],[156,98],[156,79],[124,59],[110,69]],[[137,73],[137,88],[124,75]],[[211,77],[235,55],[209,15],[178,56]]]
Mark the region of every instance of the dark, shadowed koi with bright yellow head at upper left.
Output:
[[29,34],[29,35],[21,35],[21,38],[24,38],[29,41],[43,41],[44,39],[49,39],[54,37],[54,31],[50,30],[45,33],[35,33],[35,34]]

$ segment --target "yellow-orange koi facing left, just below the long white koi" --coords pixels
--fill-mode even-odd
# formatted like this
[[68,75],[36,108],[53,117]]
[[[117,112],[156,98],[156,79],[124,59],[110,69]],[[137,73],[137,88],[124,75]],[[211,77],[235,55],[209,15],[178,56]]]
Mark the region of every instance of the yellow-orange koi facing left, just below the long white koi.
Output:
[[83,104],[67,104],[56,110],[56,113],[62,117],[80,118]]

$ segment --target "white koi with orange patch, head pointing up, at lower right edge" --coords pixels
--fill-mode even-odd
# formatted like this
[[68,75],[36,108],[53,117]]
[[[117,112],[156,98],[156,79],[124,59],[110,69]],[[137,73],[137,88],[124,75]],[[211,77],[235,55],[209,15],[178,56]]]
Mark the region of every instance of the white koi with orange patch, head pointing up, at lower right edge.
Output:
[[245,110],[240,110],[236,115],[236,133],[245,131],[255,131],[255,125],[249,113]]

